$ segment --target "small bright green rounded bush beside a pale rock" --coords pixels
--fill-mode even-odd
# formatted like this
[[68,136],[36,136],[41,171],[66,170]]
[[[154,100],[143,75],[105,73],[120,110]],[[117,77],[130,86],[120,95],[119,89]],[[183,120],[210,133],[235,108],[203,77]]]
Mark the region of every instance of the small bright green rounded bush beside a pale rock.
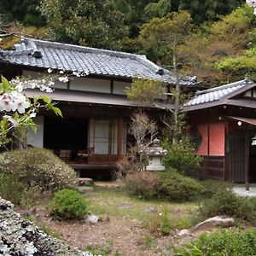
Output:
[[87,202],[84,196],[73,189],[61,189],[55,192],[51,204],[51,214],[57,218],[82,218]]

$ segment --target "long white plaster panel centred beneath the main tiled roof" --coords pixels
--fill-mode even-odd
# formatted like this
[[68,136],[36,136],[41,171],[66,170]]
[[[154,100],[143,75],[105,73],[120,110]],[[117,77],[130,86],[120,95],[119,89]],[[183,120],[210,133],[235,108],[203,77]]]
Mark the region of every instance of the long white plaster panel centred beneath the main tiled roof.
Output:
[[70,90],[110,93],[110,80],[73,78],[70,80]]

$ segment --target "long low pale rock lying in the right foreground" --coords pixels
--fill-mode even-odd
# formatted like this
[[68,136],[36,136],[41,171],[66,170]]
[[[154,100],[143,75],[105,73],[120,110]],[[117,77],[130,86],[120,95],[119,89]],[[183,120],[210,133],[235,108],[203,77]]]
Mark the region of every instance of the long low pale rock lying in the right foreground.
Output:
[[235,219],[234,218],[224,218],[223,216],[215,216],[213,218],[207,218],[207,220],[201,222],[200,224],[195,225],[194,228],[192,228],[193,232],[197,230],[205,230],[205,229],[211,229],[214,227],[231,227],[234,226]]

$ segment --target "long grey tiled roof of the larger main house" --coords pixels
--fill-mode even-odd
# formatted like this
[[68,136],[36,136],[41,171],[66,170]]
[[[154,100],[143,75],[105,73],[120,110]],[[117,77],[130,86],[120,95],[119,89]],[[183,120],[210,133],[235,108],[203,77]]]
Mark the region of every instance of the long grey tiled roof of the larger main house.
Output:
[[[27,67],[52,68],[87,75],[103,75],[124,79],[160,79],[175,84],[172,73],[149,61],[145,55],[135,55],[107,49],[94,49],[73,44],[61,44],[22,38],[15,50],[0,51],[0,61]],[[197,84],[195,77],[184,77],[183,85]]]

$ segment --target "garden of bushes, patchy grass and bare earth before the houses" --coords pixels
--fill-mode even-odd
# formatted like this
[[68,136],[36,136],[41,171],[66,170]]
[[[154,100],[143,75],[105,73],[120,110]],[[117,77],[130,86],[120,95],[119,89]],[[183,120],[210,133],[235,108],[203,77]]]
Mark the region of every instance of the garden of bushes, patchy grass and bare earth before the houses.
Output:
[[[169,154],[166,161],[175,166]],[[39,148],[2,153],[0,166],[0,194],[16,212],[93,255],[255,254],[256,200],[236,196],[232,183],[201,181],[167,167],[79,185],[69,166]],[[235,220],[195,229],[215,216]]]

